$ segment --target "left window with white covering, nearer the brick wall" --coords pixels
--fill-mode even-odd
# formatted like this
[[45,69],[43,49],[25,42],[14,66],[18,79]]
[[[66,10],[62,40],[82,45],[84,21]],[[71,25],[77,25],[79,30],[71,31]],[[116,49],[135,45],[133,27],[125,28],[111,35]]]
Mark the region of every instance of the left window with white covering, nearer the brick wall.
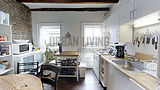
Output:
[[43,47],[46,44],[49,47],[55,47],[60,42],[61,37],[61,26],[52,25],[52,26],[41,26],[40,27],[40,46]]

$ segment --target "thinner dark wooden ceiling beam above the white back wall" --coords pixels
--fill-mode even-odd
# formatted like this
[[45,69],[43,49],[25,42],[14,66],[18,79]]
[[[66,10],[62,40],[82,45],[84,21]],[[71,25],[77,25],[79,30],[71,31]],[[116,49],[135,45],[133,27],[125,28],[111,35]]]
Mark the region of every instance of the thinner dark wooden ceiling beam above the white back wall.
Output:
[[110,11],[110,8],[39,8],[31,11]]

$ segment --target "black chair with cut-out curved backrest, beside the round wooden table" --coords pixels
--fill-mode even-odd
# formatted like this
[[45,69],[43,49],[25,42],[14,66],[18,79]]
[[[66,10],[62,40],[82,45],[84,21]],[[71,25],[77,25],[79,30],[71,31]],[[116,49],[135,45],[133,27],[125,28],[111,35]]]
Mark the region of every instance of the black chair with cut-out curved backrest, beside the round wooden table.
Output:
[[[48,71],[52,71],[55,73],[55,77],[46,77],[44,75],[44,70],[48,70]],[[49,84],[51,86],[54,87],[54,89],[56,90],[56,83],[57,83],[57,76],[59,74],[60,69],[58,67],[55,67],[53,65],[42,65],[41,66],[41,81],[42,83],[46,83]]]

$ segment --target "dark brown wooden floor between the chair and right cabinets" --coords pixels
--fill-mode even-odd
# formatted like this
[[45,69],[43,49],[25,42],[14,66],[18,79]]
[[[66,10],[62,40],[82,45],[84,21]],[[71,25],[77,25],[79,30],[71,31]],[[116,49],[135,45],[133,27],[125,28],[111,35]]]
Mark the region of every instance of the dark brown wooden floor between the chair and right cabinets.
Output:
[[[54,90],[50,85],[44,85],[44,90]],[[59,78],[57,90],[103,90],[92,69],[86,70],[86,77],[78,82],[76,78]]]

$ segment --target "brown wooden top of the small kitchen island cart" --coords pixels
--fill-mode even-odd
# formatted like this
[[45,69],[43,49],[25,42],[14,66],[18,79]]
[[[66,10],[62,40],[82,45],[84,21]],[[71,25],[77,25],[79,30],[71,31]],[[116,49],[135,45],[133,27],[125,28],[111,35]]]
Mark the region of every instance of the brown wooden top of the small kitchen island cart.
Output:
[[55,56],[79,56],[77,51],[64,51],[62,53],[57,53]]

